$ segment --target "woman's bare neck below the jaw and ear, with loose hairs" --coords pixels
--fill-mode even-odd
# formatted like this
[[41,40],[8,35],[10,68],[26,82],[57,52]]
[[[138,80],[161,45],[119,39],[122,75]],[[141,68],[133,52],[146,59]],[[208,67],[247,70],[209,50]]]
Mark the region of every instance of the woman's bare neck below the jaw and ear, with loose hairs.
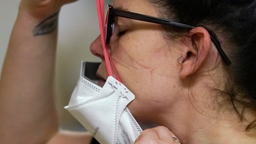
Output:
[[[202,91],[200,93],[202,94]],[[239,122],[235,112],[210,108],[207,102],[204,106],[197,105],[202,103],[195,97],[200,93],[194,93],[186,100],[171,104],[168,112],[157,116],[158,120],[161,120],[158,124],[169,128],[182,144],[256,143],[255,132],[245,132],[247,124]],[[203,93],[204,98],[205,96]],[[194,99],[197,99],[197,102],[193,101]]]

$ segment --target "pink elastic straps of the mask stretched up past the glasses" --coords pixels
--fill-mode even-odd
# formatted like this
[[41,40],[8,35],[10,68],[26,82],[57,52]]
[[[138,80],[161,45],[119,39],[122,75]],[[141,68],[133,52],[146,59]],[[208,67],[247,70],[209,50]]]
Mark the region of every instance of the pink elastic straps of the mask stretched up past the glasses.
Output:
[[[121,78],[120,78],[120,76],[117,72],[117,69],[114,65],[114,62],[108,52],[107,46],[105,45],[104,0],[96,0],[96,7],[97,7],[97,13],[98,13],[98,20],[99,20],[101,43],[102,43],[102,48],[103,48],[104,57],[105,57],[105,61],[106,61],[108,76],[113,76],[113,73],[111,70],[111,65],[112,65],[113,71],[116,75],[116,79],[119,82],[121,82]],[[111,65],[110,65],[110,63],[111,63]]]

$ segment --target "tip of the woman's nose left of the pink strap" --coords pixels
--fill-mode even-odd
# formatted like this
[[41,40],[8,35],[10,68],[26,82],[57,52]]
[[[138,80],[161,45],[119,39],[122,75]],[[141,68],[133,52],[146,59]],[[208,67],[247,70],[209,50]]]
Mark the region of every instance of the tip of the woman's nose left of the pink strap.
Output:
[[104,60],[104,52],[102,48],[100,35],[92,42],[90,46],[90,51],[97,57]]

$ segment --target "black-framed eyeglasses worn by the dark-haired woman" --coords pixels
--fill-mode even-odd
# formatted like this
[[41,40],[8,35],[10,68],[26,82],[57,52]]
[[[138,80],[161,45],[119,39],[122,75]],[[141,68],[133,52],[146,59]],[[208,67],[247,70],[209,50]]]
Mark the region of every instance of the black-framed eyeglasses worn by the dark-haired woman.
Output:
[[[124,18],[129,18],[129,19],[134,19],[134,20],[139,20],[139,21],[144,21],[144,22],[150,22],[150,23],[155,23],[155,24],[160,24],[160,25],[166,25],[166,26],[173,26],[173,27],[178,27],[178,28],[185,28],[185,29],[194,29],[195,27],[181,24],[175,21],[167,20],[167,19],[162,19],[158,17],[153,17],[149,15],[144,15],[144,14],[139,14],[139,13],[134,13],[130,11],[124,11],[124,10],[116,10],[113,8],[113,6],[108,5],[108,12],[106,16],[106,44],[109,44],[110,42],[110,37],[112,36],[113,28],[114,28],[114,16],[119,16],[119,17],[124,17]],[[203,26],[202,26],[203,27]],[[221,44],[215,35],[215,33],[209,29],[205,28],[211,37],[212,42],[215,44],[216,48],[218,49],[223,61],[227,66],[231,64],[231,61],[221,48]]]

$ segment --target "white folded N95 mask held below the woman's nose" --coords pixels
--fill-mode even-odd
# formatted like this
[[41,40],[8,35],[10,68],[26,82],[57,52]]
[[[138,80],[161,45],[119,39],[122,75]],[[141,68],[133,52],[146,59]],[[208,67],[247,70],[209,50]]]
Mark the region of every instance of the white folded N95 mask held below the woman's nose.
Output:
[[101,144],[133,144],[142,132],[126,107],[135,95],[114,77],[109,76],[101,88],[84,76],[65,107]]

